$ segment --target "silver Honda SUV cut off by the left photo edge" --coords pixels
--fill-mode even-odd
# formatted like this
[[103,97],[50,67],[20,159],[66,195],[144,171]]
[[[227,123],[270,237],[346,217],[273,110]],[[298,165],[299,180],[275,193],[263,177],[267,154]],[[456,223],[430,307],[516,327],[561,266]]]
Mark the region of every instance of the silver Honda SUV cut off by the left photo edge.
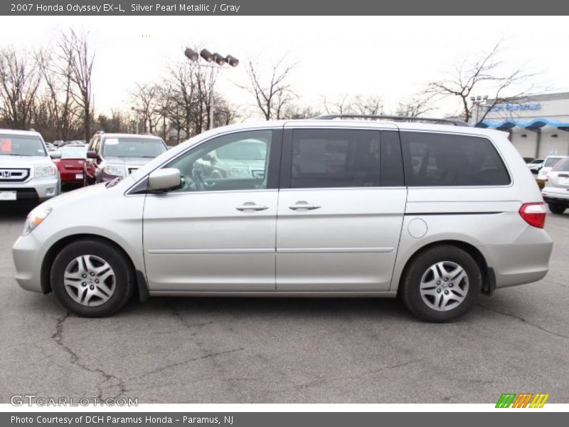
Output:
[[38,132],[0,129],[0,202],[44,201],[57,196],[60,186]]

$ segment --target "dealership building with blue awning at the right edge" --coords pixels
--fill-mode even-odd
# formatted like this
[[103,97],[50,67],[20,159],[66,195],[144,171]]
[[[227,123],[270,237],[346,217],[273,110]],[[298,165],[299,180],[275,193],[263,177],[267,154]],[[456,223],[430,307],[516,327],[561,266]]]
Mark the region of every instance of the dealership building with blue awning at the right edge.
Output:
[[[487,100],[486,105],[477,105],[474,120],[493,103]],[[509,132],[509,139],[523,157],[569,155],[569,93],[531,95],[498,103],[479,126]]]

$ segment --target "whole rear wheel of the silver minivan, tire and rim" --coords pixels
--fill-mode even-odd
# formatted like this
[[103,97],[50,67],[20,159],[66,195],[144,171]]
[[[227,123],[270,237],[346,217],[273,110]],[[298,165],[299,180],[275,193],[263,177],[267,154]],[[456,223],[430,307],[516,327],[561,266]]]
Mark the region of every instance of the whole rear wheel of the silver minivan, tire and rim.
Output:
[[450,322],[474,305],[482,274],[474,258],[456,246],[435,246],[410,263],[402,283],[403,302],[429,322]]

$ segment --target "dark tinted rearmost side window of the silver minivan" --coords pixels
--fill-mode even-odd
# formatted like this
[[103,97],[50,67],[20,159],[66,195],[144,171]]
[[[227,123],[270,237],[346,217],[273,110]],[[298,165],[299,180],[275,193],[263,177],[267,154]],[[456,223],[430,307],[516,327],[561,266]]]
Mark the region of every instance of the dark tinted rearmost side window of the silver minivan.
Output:
[[494,144],[483,137],[401,132],[408,186],[508,185]]

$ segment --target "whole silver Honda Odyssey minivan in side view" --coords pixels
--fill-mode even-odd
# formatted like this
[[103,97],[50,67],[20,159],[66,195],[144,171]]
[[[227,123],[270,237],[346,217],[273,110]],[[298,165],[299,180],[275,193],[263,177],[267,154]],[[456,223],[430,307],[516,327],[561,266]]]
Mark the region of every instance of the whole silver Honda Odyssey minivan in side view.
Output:
[[[41,204],[14,244],[16,280],[92,317],[134,292],[400,295],[444,322],[546,275],[546,209],[504,132],[323,118],[220,127]],[[243,141],[265,144],[260,171],[206,174]]]

